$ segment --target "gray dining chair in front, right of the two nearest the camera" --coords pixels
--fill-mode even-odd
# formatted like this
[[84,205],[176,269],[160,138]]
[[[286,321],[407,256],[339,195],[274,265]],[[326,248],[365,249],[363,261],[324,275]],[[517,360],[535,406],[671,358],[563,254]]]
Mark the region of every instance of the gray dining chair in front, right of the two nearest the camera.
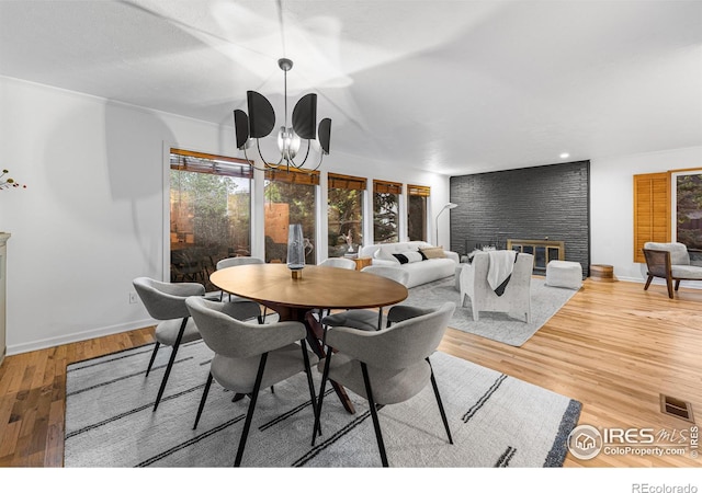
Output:
[[346,326],[330,328],[330,351],[317,369],[322,372],[313,446],[320,431],[321,405],[328,380],[369,401],[383,467],[387,455],[376,406],[397,404],[417,395],[431,382],[449,443],[453,444],[437,379],[429,357],[441,343],[455,303],[445,302],[430,313],[401,321],[382,331],[366,332]]

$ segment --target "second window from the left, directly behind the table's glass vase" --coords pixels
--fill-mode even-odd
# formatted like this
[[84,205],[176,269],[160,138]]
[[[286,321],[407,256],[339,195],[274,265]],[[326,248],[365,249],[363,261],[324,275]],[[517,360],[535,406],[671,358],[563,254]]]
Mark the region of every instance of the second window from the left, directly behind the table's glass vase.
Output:
[[316,264],[316,206],[319,172],[286,168],[265,171],[265,262],[287,261],[288,226],[303,225],[305,263]]

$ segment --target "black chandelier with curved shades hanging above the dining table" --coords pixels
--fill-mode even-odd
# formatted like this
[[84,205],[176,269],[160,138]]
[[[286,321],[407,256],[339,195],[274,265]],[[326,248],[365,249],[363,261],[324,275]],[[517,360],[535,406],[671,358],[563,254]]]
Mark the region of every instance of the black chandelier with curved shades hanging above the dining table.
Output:
[[[309,157],[312,140],[317,139],[320,147],[319,162],[317,162],[317,165],[312,170],[316,171],[321,165],[324,156],[329,153],[331,118],[324,118],[319,122],[319,127],[317,127],[317,94],[309,93],[304,95],[297,104],[295,104],[292,115],[292,126],[288,126],[287,72],[293,68],[293,61],[287,58],[281,58],[278,60],[278,66],[285,74],[285,119],[278,133],[278,148],[281,152],[280,160],[271,164],[261,153],[259,139],[268,137],[271,131],[273,131],[275,127],[275,112],[271,103],[256,91],[247,91],[246,93],[249,108],[248,115],[241,110],[234,111],[237,149],[244,150],[246,159],[251,161],[247,154],[247,148],[251,147],[253,145],[252,139],[256,139],[259,157],[261,161],[265,163],[267,168],[278,168],[284,161],[288,170],[290,167],[301,169],[305,165]],[[305,152],[305,159],[303,159],[302,162],[296,162],[295,158],[299,151],[302,139],[307,140],[307,151]]]

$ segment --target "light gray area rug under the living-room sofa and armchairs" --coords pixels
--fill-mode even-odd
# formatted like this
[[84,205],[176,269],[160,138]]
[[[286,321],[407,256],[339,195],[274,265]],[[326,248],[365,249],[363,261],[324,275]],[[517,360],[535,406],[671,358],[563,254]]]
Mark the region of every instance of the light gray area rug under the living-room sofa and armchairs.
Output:
[[511,346],[521,346],[536,333],[573,296],[574,289],[546,286],[543,277],[531,279],[531,323],[507,313],[480,312],[477,322],[473,320],[471,298],[458,306],[461,294],[455,288],[455,278],[435,280],[409,289],[409,297],[401,305],[438,307],[444,301],[456,303],[450,326],[471,334],[480,335]]

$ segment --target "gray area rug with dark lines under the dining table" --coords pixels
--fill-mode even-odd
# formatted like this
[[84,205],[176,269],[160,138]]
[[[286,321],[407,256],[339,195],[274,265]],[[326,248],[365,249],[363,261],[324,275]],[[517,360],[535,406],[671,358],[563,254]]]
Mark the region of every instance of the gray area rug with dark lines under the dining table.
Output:
[[[165,398],[154,398],[169,348],[152,345],[70,365],[67,374],[65,466],[229,467],[248,399],[213,383],[197,429],[192,425],[212,352],[202,342],[181,347]],[[450,445],[431,386],[380,411],[390,467],[559,467],[579,402],[469,362],[435,353],[432,365],[453,434]],[[316,369],[315,385],[319,388]],[[335,393],[325,398],[322,436],[310,446],[314,422],[299,374],[259,397],[245,467],[380,467],[366,401],[350,393],[356,413]]]

